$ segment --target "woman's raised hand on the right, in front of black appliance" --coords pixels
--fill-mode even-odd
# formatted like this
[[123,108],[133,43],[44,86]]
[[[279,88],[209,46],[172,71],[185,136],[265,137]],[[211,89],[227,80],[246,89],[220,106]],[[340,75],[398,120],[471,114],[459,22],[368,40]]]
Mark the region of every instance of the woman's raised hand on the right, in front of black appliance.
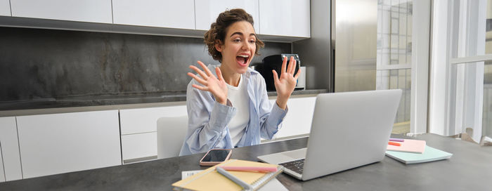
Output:
[[287,67],[287,57],[283,58],[282,62],[282,72],[280,73],[280,79],[278,78],[278,74],[275,70],[273,72],[273,80],[275,81],[275,88],[277,90],[277,105],[278,107],[285,110],[287,107],[287,100],[290,98],[290,94],[294,91],[295,85],[297,83],[297,78],[299,78],[299,74],[301,74],[301,69],[297,71],[297,74],[294,77],[294,71],[296,65],[296,60],[294,57],[290,57],[289,66]]

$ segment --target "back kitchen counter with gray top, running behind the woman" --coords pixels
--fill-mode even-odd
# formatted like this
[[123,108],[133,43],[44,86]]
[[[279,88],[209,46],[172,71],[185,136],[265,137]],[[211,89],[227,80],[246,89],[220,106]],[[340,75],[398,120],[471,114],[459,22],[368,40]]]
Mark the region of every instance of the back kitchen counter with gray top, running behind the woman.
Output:
[[[326,89],[299,90],[296,96],[313,96],[327,93]],[[275,91],[268,92],[269,97],[276,96]],[[124,95],[83,95],[63,98],[20,100],[0,102],[0,117],[30,114],[53,114],[63,112],[87,112],[98,110],[120,110],[142,107],[161,107],[184,104],[186,91],[166,91],[159,93],[127,93]]]

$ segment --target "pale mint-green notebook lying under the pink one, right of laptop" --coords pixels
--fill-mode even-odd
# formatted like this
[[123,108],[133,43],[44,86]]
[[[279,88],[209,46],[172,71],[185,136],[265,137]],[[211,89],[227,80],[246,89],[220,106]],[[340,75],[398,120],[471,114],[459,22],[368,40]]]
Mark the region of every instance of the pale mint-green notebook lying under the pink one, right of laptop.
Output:
[[410,152],[386,151],[386,155],[404,164],[415,164],[421,162],[433,162],[442,159],[449,159],[453,154],[444,152],[425,145],[425,151],[422,154]]

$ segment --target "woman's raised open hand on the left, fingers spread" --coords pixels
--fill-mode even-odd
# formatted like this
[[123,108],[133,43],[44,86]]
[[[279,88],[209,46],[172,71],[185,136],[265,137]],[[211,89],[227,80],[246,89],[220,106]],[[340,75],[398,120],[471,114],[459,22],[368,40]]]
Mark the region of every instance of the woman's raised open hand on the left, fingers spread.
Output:
[[202,84],[202,86],[198,84],[193,84],[192,86],[194,88],[197,88],[202,91],[209,91],[214,95],[215,100],[218,103],[221,103],[223,105],[227,104],[227,85],[226,81],[224,81],[224,78],[222,77],[222,72],[219,69],[219,67],[215,68],[215,72],[217,74],[217,77],[215,77],[212,72],[205,66],[205,64],[201,61],[198,61],[198,64],[203,68],[203,71],[200,70],[198,67],[195,67],[194,65],[190,65],[190,69],[195,70],[198,74],[200,74],[201,77],[198,77],[197,75],[188,72],[188,76],[193,77],[198,83]]

